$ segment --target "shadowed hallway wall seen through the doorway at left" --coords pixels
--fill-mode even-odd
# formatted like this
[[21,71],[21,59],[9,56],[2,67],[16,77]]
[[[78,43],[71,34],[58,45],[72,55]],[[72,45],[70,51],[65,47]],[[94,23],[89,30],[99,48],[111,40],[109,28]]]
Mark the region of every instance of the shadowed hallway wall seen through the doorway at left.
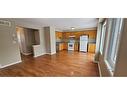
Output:
[[22,54],[29,55],[33,53],[32,45],[35,44],[34,30],[22,27],[16,27],[19,46]]

